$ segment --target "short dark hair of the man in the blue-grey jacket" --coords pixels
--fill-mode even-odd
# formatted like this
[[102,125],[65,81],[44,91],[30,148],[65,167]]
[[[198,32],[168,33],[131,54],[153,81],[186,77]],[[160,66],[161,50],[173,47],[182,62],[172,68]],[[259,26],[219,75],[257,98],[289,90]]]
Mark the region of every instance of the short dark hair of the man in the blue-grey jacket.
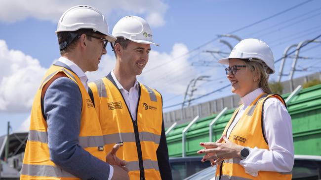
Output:
[[[78,34],[78,35],[77,35],[77,37],[75,37],[75,39],[70,44],[67,45],[66,48],[60,50],[60,55],[64,55],[65,53],[68,53],[71,50],[75,49],[76,43],[78,42],[79,36],[81,34],[92,35],[95,32],[92,29],[80,29],[80,30],[76,30],[76,31],[61,31],[61,32],[57,32],[58,43],[61,44],[61,43],[65,42],[65,41],[67,41],[67,39],[70,37],[71,33],[75,33],[75,34]],[[98,33],[100,33],[100,32],[98,32]],[[91,40],[91,38],[89,36],[87,36],[87,39]]]

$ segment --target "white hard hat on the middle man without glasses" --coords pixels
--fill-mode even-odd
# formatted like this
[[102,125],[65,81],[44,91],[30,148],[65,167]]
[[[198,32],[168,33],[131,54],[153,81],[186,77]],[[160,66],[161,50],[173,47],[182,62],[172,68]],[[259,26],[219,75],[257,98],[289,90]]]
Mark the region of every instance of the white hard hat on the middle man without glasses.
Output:
[[115,25],[113,32],[115,37],[123,37],[142,44],[158,44],[153,42],[153,33],[148,23],[138,16],[125,16]]

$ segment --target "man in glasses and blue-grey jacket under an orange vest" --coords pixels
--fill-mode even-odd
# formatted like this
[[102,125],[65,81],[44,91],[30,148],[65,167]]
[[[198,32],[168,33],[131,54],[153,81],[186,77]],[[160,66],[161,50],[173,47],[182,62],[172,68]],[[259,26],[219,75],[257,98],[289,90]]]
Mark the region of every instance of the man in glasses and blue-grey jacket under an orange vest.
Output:
[[108,41],[116,38],[102,13],[87,5],[68,9],[56,33],[61,57],[36,93],[20,179],[129,179],[126,162],[116,157],[119,145],[106,156],[84,74],[98,69]]

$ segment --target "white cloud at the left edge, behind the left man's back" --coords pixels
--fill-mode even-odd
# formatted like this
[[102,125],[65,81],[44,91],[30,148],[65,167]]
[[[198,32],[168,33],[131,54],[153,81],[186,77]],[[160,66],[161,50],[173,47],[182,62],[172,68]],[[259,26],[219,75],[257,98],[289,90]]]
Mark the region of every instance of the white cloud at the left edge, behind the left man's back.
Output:
[[45,72],[39,60],[0,40],[0,112],[28,112]]

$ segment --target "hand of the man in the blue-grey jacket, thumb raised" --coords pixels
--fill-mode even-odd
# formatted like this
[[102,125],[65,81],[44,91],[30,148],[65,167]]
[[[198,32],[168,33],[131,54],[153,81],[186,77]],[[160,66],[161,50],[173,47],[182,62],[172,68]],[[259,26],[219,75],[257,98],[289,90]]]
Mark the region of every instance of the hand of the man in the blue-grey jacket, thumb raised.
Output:
[[126,168],[127,162],[121,160],[116,156],[117,150],[120,149],[120,144],[116,144],[113,149],[107,154],[106,162],[113,166],[114,173],[112,180],[129,180],[128,168]]

